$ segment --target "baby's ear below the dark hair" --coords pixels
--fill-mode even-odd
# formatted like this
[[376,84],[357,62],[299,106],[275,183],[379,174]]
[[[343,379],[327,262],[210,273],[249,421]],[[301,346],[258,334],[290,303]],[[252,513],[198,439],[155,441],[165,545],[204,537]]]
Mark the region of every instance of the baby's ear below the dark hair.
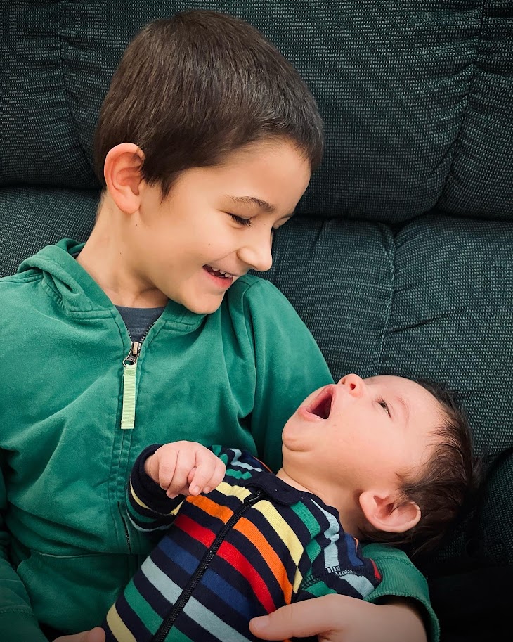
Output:
[[363,492],[359,502],[365,519],[388,533],[404,533],[420,520],[420,508],[414,501],[398,501],[392,494],[372,490]]

